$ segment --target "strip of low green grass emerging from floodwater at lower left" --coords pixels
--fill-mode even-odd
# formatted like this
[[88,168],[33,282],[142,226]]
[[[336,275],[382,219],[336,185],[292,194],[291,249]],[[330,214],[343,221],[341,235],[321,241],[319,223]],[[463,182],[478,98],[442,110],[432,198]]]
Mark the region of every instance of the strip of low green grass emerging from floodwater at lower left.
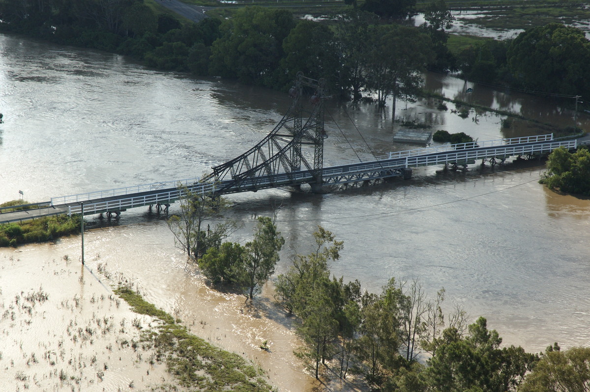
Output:
[[271,391],[261,371],[244,358],[214,347],[192,335],[186,327],[176,324],[166,312],[146,302],[129,288],[115,291],[129,303],[133,311],[159,318],[162,325],[155,331],[144,331],[142,340],[158,350],[157,360],[166,356],[168,372],[181,386],[204,391]]

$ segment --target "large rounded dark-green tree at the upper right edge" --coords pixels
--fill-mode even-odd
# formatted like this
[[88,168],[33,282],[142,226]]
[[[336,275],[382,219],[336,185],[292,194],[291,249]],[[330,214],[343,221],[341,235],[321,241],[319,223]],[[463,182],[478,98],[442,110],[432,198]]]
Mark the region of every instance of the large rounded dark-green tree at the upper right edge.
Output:
[[522,32],[507,51],[513,77],[530,90],[582,95],[590,85],[590,41],[583,31],[550,23]]

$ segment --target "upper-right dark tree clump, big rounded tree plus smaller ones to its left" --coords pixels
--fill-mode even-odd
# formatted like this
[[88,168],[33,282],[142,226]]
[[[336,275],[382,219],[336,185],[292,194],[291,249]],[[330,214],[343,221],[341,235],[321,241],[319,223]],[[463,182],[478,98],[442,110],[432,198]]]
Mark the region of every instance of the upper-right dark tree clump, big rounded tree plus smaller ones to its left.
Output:
[[457,55],[471,80],[528,91],[590,93],[590,41],[581,29],[559,23],[527,29],[514,39],[487,39]]

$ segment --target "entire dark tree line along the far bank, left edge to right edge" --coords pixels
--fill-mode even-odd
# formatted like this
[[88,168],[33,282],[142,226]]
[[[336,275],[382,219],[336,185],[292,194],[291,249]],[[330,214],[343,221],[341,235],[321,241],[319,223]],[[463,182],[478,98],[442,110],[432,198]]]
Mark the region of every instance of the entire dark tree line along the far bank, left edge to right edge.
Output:
[[3,0],[0,28],[131,55],[162,70],[283,90],[303,71],[326,78],[333,95],[368,98],[379,106],[388,97],[415,100],[425,68],[458,70],[470,80],[531,91],[590,90],[590,41],[578,28],[548,24],[514,39],[486,39],[454,55],[447,48],[454,18],[444,0],[424,6],[419,28],[395,24],[415,12],[415,0],[349,4],[329,22],[246,7],[223,21],[193,24],[156,14],[143,0]]

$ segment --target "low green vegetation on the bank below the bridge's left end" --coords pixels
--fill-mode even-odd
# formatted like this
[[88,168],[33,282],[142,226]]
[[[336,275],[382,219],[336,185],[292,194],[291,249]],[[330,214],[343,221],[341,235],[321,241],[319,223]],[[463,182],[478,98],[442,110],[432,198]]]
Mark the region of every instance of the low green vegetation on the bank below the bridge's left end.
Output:
[[54,241],[61,236],[80,231],[79,215],[54,215],[28,220],[24,223],[0,224],[0,246],[19,243]]

